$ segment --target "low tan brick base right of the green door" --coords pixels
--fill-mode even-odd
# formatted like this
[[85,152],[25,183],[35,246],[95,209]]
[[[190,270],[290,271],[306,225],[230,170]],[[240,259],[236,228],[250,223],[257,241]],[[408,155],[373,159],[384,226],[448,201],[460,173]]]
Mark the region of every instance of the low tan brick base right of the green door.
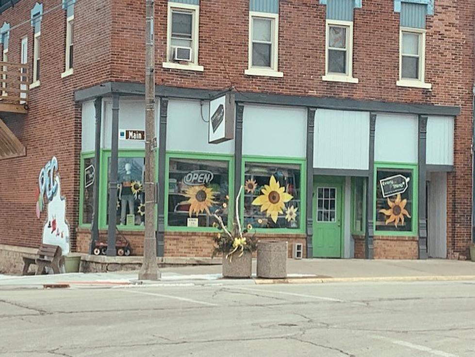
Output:
[[[353,236],[355,258],[365,258],[364,236]],[[418,237],[375,236],[373,238],[375,259],[417,259]]]

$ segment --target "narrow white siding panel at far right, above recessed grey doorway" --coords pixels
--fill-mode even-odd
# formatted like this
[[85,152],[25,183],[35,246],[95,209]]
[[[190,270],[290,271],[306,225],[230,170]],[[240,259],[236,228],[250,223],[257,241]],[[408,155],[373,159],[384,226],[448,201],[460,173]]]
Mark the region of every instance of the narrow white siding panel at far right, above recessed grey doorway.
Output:
[[427,120],[426,162],[454,164],[454,117],[429,116]]

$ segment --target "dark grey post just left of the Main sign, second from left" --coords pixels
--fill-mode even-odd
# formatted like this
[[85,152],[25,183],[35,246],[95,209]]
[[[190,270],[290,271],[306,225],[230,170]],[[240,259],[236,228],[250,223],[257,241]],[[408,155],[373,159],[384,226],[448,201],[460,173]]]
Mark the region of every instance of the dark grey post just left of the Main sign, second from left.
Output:
[[107,256],[115,257],[115,219],[117,211],[117,166],[119,161],[119,95],[112,95],[112,145],[111,174],[109,176],[109,228],[107,231]]

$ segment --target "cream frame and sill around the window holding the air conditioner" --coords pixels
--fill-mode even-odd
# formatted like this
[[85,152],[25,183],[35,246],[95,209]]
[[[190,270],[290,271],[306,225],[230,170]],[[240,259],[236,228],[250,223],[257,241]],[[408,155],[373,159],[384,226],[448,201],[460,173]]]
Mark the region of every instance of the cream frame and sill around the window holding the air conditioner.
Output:
[[[193,42],[193,61],[189,64],[181,64],[171,62],[168,59],[170,58],[170,44],[171,44],[171,32],[172,32],[172,9],[183,9],[183,10],[192,10],[194,11],[193,19],[193,34],[192,34],[192,42]],[[167,20],[166,20],[166,59],[165,62],[162,63],[163,68],[171,68],[171,69],[184,69],[189,71],[198,71],[202,72],[204,70],[202,65],[198,65],[198,49],[199,49],[199,5],[190,5],[190,4],[182,4],[178,2],[168,2],[168,13],[167,13]]]

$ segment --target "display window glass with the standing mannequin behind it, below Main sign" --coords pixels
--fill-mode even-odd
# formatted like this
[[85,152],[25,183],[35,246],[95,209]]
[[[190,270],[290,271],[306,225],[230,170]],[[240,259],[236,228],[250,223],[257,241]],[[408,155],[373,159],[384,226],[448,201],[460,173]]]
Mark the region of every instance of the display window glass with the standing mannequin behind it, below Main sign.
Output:
[[[119,226],[145,224],[144,158],[120,158],[117,166],[117,202],[115,222]],[[108,159],[108,178],[111,158]],[[107,192],[107,221],[109,222],[109,191]]]

